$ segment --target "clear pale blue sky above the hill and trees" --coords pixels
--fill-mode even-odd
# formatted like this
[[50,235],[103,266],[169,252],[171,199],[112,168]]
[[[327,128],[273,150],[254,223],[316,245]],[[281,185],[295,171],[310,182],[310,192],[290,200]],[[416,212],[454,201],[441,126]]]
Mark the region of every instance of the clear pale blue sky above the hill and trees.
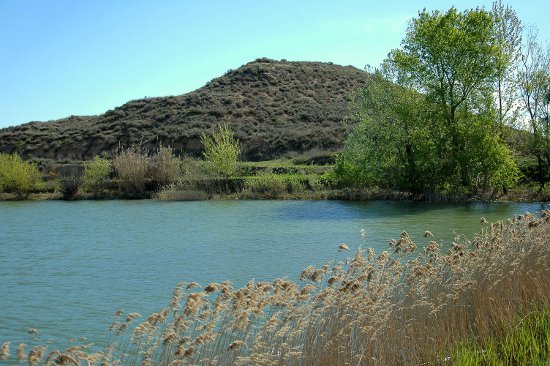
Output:
[[[550,40],[550,1],[503,2]],[[491,4],[0,0],[0,128],[184,94],[261,57],[376,67],[419,10]]]

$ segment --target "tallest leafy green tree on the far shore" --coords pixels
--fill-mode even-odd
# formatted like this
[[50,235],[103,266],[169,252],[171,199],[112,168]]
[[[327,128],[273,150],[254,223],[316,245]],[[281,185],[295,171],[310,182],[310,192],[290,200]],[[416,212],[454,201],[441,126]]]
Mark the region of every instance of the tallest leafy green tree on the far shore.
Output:
[[452,177],[447,183],[455,187],[472,188],[479,174],[496,173],[483,165],[484,153],[495,151],[483,143],[498,132],[493,91],[505,63],[495,34],[495,17],[483,9],[424,10],[410,23],[403,48],[392,51],[384,65],[396,81],[437,107],[443,134],[436,148]]

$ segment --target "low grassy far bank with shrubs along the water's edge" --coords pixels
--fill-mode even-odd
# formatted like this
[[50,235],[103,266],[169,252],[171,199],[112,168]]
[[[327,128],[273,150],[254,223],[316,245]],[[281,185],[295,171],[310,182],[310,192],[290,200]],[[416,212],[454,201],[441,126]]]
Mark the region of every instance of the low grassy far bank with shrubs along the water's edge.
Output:
[[[210,161],[173,155],[170,148],[146,154],[121,150],[112,159],[86,162],[39,162],[3,154],[0,199],[341,199],[433,202],[548,201],[550,190],[525,180],[513,189],[477,193],[433,191],[410,193],[344,184],[333,157],[297,156],[261,162],[233,162],[227,171]],[[323,165],[316,163],[323,160]],[[9,164],[8,164],[9,163]],[[40,169],[38,169],[40,167]]]

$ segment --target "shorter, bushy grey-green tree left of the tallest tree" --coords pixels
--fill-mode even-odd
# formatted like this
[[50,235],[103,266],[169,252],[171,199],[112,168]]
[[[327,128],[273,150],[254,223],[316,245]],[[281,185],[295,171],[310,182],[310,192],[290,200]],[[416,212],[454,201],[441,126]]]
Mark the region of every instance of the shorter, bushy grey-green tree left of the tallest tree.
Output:
[[430,118],[421,94],[377,72],[351,107],[357,127],[336,164],[343,183],[420,192],[434,182],[427,172],[433,171],[427,160],[433,147],[425,136]]

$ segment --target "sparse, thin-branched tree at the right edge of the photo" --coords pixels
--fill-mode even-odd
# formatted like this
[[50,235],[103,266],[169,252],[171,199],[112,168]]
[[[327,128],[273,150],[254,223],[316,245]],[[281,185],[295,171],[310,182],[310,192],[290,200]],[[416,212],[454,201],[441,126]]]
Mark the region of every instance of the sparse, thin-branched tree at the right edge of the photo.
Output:
[[548,179],[550,167],[550,45],[544,49],[531,29],[522,49],[519,88],[531,132],[530,151],[537,160],[541,188]]

